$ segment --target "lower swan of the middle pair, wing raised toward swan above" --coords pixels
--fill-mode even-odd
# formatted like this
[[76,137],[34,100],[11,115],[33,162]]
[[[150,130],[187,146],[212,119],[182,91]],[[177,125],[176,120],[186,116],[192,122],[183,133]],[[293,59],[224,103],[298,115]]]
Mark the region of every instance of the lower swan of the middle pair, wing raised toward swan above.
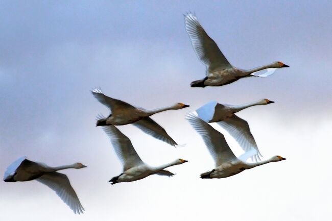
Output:
[[164,168],[188,162],[187,160],[177,159],[171,163],[152,167],[145,164],[136,153],[130,139],[121,133],[115,126],[103,126],[104,132],[109,136],[115,150],[115,154],[123,164],[123,172],[110,179],[112,185],[120,182],[132,182],[156,174],[172,177],[174,174]]

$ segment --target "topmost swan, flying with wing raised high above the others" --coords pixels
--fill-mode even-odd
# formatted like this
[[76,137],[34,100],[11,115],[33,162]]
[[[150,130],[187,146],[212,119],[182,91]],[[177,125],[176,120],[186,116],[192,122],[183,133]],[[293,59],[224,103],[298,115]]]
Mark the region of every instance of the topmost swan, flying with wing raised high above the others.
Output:
[[192,87],[222,86],[245,77],[268,77],[281,67],[289,67],[280,61],[249,70],[232,66],[220,51],[218,45],[204,31],[197,17],[189,13],[185,15],[185,30],[192,41],[194,51],[199,60],[207,67],[206,77],[193,81]]

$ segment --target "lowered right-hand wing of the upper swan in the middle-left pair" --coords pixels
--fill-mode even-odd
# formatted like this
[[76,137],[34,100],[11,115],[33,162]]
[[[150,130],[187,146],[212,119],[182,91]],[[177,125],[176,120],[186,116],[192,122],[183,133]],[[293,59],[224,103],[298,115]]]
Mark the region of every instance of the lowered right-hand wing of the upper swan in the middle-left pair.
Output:
[[163,129],[160,125],[158,125],[153,119],[150,117],[145,117],[141,120],[134,122],[132,125],[138,127],[143,132],[153,136],[156,139],[167,142],[170,145],[178,145],[171,137],[167,134],[165,129]]

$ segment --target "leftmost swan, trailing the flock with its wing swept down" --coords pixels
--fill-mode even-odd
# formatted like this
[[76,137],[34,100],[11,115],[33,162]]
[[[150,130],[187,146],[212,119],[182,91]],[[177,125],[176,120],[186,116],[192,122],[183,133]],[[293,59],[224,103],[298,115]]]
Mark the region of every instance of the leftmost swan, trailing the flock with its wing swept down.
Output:
[[5,172],[5,182],[30,181],[36,180],[54,190],[61,200],[69,206],[74,213],[83,213],[83,206],[77,197],[75,190],[70,185],[66,175],[58,173],[58,170],[86,167],[82,163],[51,167],[44,163],[38,163],[21,157],[10,164]]

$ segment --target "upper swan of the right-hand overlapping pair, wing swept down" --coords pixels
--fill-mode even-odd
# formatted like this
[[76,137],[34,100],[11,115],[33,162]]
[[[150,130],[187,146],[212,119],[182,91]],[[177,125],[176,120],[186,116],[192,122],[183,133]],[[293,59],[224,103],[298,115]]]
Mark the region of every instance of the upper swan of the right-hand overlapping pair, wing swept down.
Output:
[[260,160],[262,155],[259,153],[258,146],[251,134],[248,122],[236,116],[234,113],[251,106],[267,105],[272,103],[274,102],[268,99],[262,99],[243,105],[226,105],[211,101],[198,108],[196,113],[198,117],[203,119],[205,122],[217,122],[219,126],[226,130],[236,140],[236,142],[239,143],[245,152],[254,149],[255,154],[251,156],[251,159],[257,162],[257,159]]

